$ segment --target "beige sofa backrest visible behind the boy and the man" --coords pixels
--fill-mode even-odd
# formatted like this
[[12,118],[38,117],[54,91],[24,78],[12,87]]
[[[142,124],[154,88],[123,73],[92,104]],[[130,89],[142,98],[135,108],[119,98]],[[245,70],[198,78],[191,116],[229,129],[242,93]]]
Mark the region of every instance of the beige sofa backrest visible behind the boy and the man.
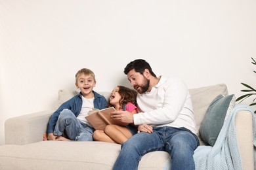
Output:
[[[216,84],[213,86],[205,86],[201,88],[192,88],[189,89],[191,99],[192,99],[192,105],[194,109],[195,119],[196,119],[196,126],[199,130],[200,125],[203,120],[203,116],[205,115],[209,104],[215,97],[219,94],[228,95],[228,90],[226,88],[225,84]],[[71,97],[74,97],[79,93],[77,90],[59,90],[58,91],[58,103],[56,107],[59,107],[62,103],[70,99]],[[110,92],[98,92],[106,99],[109,99]]]

